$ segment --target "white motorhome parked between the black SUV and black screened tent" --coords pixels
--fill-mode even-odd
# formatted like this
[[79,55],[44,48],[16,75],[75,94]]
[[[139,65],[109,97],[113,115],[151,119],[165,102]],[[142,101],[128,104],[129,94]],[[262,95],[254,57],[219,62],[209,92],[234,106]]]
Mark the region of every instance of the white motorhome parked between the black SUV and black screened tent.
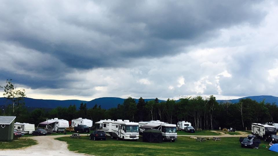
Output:
[[129,120],[106,120],[102,123],[102,130],[108,133],[111,138],[121,138],[123,140],[139,139],[139,126],[137,122]]

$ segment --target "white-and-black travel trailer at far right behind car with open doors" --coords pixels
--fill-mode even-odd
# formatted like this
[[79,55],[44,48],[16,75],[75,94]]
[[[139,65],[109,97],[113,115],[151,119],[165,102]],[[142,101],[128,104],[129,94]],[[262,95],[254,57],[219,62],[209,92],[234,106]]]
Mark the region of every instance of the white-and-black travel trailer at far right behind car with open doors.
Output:
[[265,138],[266,136],[277,133],[276,127],[259,123],[252,123],[251,130],[253,135],[260,138]]

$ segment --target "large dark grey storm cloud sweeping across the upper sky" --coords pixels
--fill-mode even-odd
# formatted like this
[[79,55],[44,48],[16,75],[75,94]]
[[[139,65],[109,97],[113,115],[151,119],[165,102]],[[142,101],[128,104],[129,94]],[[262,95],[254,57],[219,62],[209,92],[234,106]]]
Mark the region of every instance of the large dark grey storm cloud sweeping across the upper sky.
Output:
[[28,7],[25,1],[6,1],[0,11],[1,40],[83,69],[175,55],[181,47],[217,36],[219,29],[256,25],[264,17],[254,7],[258,1],[47,2]]

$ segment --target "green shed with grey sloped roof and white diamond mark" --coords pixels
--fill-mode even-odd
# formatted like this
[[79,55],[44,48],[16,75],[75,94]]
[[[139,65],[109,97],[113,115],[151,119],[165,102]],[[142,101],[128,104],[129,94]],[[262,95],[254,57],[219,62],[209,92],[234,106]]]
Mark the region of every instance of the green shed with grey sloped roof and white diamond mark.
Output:
[[14,139],[14,120],[16,116],[0,116],[0,141]]

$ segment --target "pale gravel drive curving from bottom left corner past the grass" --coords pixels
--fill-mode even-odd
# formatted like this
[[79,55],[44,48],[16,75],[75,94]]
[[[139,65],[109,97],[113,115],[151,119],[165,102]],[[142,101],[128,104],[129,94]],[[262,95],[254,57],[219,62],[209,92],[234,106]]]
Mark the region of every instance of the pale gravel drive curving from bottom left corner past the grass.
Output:
[[30,137],[37,140],[38,144],[27,148],[15,150],[0,150],[0,156],[77,156],[85,155],[81,153],[74,153],[67,149],[67,143],[54,140],[54,138],[70,136],[70,135],[50,135],[50,136],[34,136]]

